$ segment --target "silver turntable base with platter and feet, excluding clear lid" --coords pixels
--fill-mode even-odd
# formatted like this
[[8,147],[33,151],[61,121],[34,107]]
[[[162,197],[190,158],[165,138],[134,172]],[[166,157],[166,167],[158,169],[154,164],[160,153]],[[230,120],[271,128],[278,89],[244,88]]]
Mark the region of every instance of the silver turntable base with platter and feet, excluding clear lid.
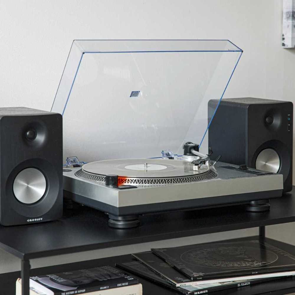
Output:
[[137,226],[142,213],[255,202],[281,196],[283,189],[280,174],[222,162],[195,171],[183,160],[104,160],[63,175],[66,197],[108,213],[117,228]]

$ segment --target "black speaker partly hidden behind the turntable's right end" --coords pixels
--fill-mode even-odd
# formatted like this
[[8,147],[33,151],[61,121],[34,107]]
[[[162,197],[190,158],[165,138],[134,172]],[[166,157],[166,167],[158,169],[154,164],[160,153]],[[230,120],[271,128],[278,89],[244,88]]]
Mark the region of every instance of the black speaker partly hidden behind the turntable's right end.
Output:
[[[219,100],[208,102],[210,122]],[[209,127],[209,147],[222,162],[283,174],[292,189],[293,104],[259,98],[222,99]]]

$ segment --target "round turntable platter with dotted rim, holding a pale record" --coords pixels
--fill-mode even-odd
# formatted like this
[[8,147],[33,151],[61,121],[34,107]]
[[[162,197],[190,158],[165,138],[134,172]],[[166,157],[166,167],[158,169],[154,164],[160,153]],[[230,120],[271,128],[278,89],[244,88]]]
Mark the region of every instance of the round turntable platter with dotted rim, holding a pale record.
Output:
[[190,162],[164,159],[120,159],[91,162],[83,165],[76,176],[105,181],[105,176],[119,176],[119,184],[166,184],[201,181],[214,178],[217,174],[207,165],[198,171]]

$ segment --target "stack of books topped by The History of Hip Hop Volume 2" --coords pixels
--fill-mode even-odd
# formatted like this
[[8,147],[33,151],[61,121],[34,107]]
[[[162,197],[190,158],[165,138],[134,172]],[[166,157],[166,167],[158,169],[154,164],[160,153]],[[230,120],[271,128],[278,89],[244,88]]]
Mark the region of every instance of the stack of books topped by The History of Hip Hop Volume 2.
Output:
[[[16,282],[16,295],[22,282]],[[130,274],[112,266],[30,277],[30,295],[142,295],[142,285]]]

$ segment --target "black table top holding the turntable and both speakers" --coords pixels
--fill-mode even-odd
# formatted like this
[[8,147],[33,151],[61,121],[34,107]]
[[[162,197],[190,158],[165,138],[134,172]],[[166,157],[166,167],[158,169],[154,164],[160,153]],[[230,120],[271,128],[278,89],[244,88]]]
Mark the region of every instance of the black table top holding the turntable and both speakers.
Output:
[[270,203],[270,211],[263,213],[247,212],[243,205],[236,205],[147,214],[140,217],[140,227],[132,229],[110,228],[106,214],[81,206],[65,211],[58,221],[0,226],[0,248],[31,259],[295,221],[295,187]]

